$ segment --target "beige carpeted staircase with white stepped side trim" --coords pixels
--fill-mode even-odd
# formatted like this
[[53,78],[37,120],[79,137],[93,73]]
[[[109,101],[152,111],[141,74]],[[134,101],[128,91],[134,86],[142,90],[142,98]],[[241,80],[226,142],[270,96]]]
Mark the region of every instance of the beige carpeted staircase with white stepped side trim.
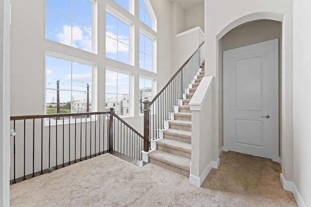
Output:
[[156,140],[156,150],[149,153],[149,162],[185,176],[190,175],[191,162],[191,111],[189,102],[205,76],[205,65],[201,66],[192,81],[181,105],[174,106],[173,119],[167,121],[169,128],[163,130],[163,138]]

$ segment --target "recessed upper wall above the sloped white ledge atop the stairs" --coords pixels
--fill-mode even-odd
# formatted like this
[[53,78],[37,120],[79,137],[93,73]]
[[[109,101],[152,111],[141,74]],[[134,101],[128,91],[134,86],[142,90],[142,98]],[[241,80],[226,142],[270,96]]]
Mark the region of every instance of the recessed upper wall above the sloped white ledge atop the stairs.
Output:
[[204,2],[185,11],[184,31],[201,27],[204,32]]

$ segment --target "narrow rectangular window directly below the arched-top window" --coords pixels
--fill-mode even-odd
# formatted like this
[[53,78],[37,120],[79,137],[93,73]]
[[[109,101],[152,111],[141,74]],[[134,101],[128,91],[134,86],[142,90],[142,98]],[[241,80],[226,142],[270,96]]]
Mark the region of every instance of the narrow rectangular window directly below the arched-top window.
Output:
[[153,71],[153,41],[139,33],[139,68]]

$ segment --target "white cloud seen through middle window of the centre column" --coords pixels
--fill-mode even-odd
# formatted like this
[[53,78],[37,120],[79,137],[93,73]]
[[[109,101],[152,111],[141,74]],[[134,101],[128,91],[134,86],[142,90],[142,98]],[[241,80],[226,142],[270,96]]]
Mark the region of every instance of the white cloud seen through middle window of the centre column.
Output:
[[[114,35],[113,33],[111,32],[106,32],[106,36],[109,36],[109,37],[106,37],[106,52],[110,52],[110,53],[117,53],[117,52],[129,52],[129,36],[122,36],[122,35],[119,35],[117,37],[117,35]],[[117,40],[116,39],[119,39],[119,41],[121,41],[122,43],[124,44],[120,44],[118,45],[117,47]]]

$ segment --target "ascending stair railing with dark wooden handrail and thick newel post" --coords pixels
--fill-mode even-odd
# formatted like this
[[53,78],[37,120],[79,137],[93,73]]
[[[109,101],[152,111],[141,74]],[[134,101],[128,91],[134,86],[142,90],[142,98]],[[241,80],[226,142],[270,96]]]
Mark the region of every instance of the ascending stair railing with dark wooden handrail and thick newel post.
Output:
[[201,66],[201,50],[204,42],[190,58],[175,72],[173,77],[155,95],[152,101],[144,104],[144,151],[151,150],[151,139],[159,138],[164,130],[164,121],[171,120],[174,106],[180,105],[186,97],[186,89],[192,84]]

